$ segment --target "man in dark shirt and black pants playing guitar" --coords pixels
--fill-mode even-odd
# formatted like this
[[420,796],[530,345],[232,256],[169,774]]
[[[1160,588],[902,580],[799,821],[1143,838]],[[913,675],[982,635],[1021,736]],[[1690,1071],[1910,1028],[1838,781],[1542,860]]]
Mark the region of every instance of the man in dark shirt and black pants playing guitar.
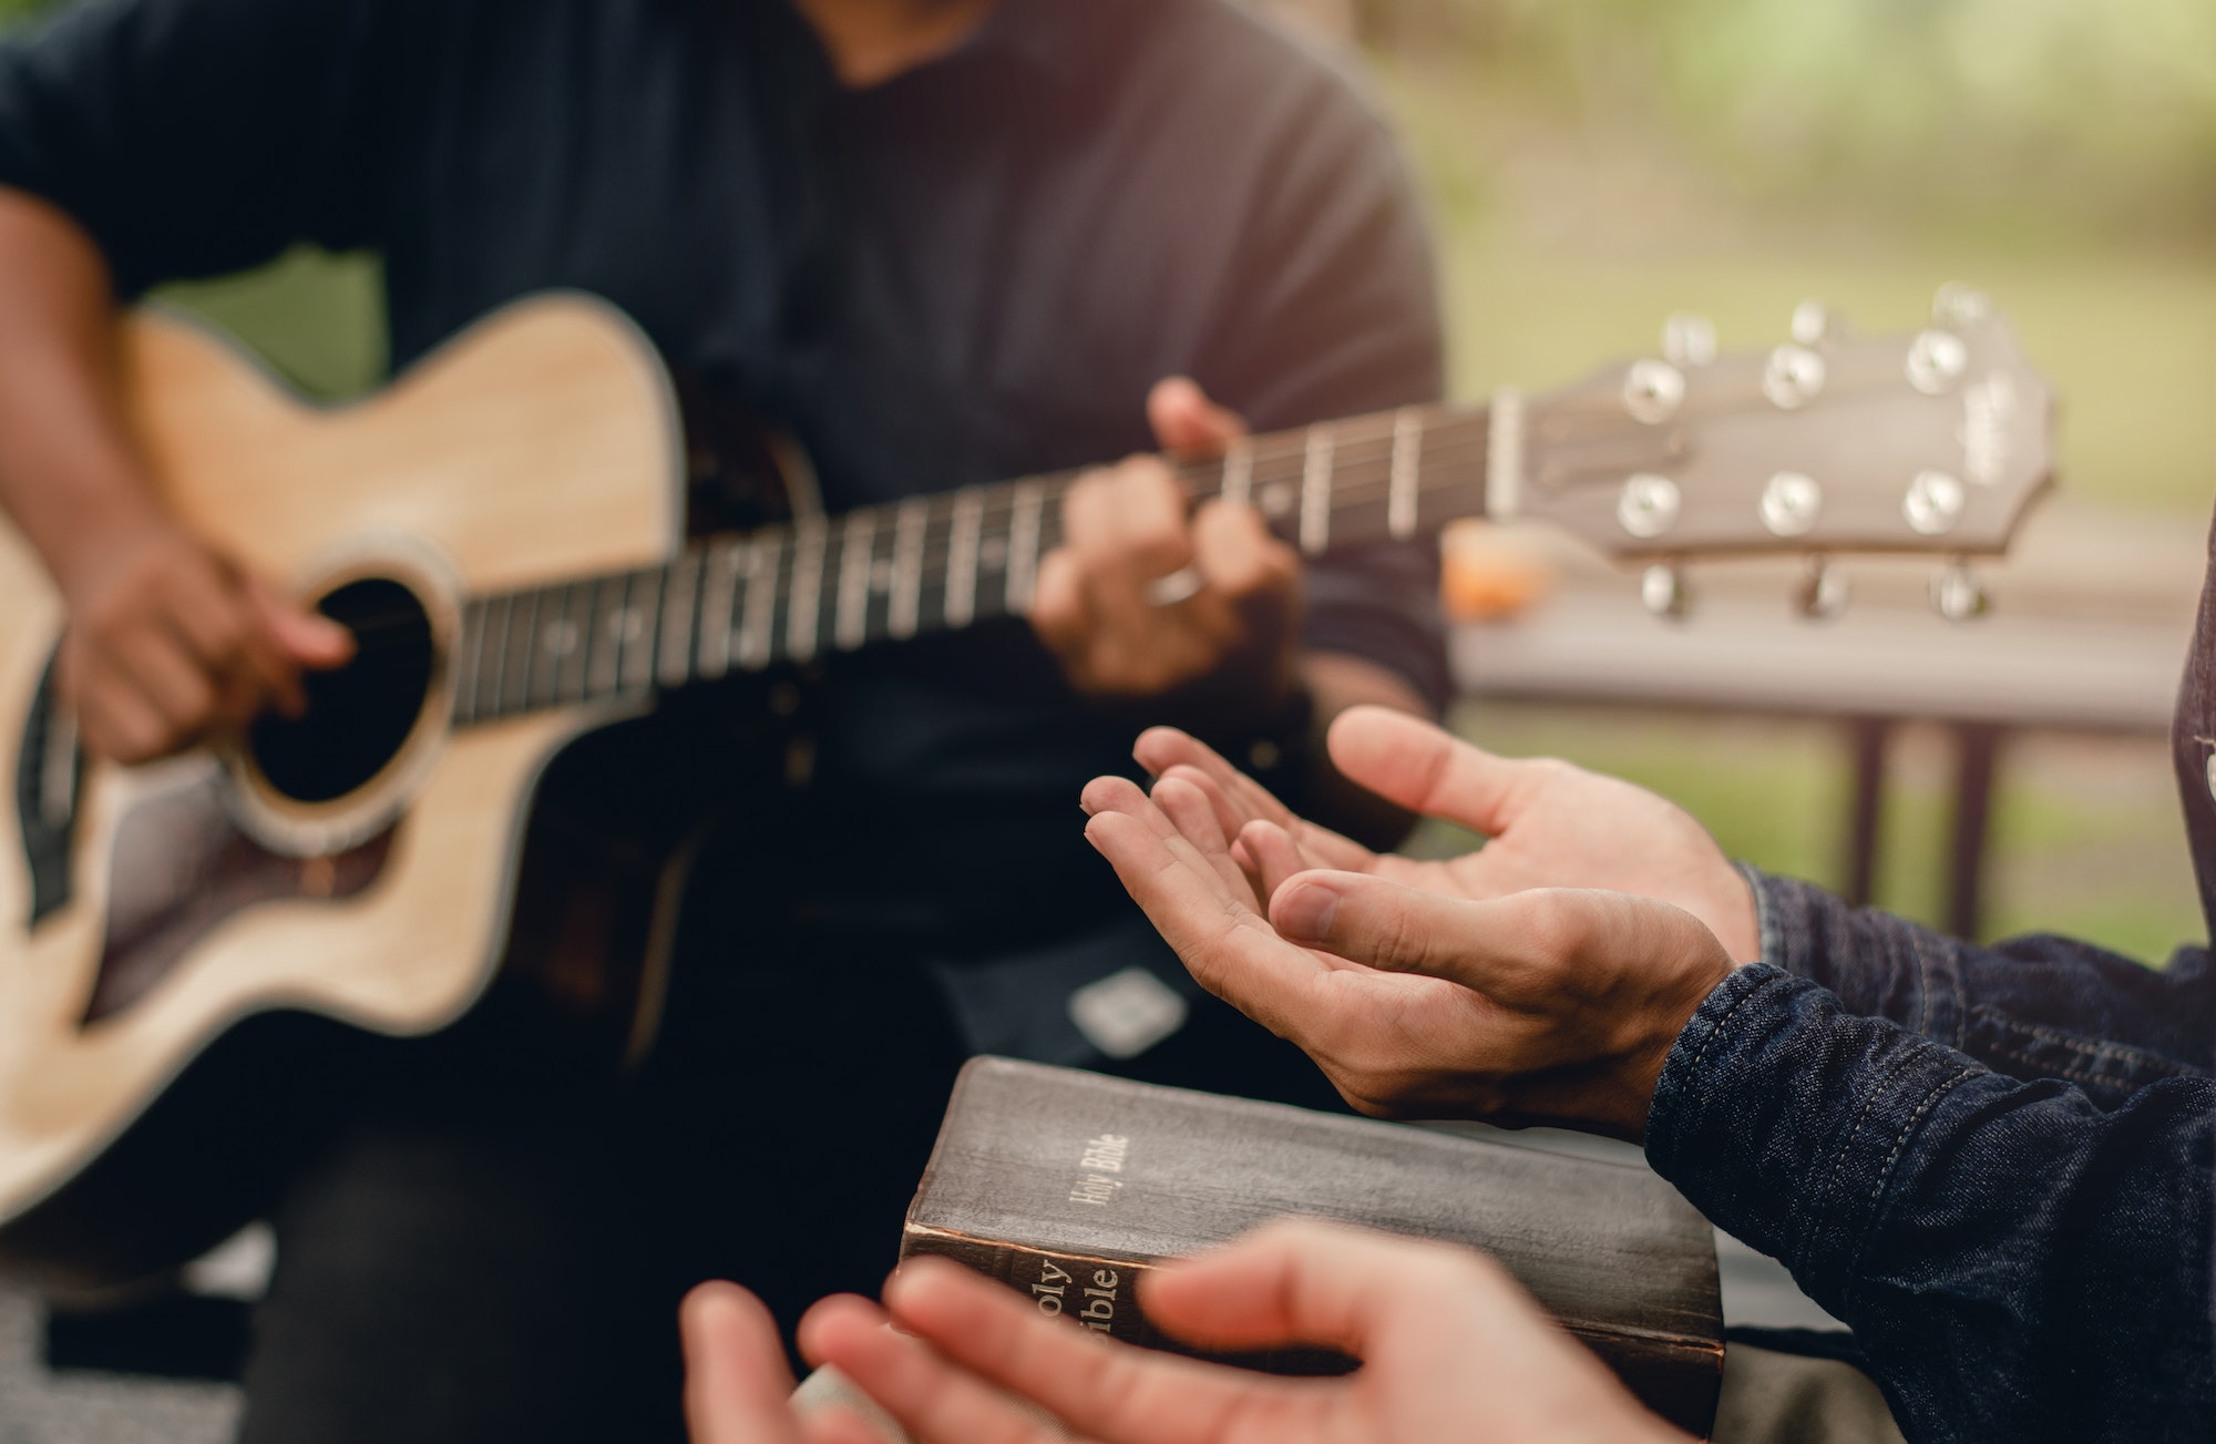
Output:
[[[301,241],[383,255],[399,365],[521,295],[612,299],[689,399],[791,432],[831,509],[1440,385],[1383,124],[1228,0],[89,0],[0,49],[0,503],[109,757],[297,709],[352,651],[164,514],[111,352],[120,299]],[[1064,534],[1028,627],[811,678],[784,784],[694,866],[638,1074],[532,1070],[494,1019],[270,1099],[244,1437],[674,1435],[680,1291],[791,1316],[873,1282],[973,1048],[1327,1099],[1190,986],[1070,797],[1168,720],[1389,842],[1310,740],[1443,702],[1436,563],[1303,567],[1150,458],[1088,474]],[[694,740],[758,704],[711,695]],[[1110,1063],[1068,997],[1132,966],[1174,1032]]]

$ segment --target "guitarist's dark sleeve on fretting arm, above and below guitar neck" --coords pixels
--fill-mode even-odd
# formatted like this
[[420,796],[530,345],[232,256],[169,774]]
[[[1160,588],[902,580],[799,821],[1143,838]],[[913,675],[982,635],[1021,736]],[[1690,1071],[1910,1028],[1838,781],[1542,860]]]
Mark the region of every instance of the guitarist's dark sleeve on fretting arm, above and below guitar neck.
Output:
[[[1241,295],[1197,377],[1256,432],[1438,401],[1432,235],[1398,144],[1330,66],[1272,100],[1283,122],[1256,162],[1268,179],[1237,266]],[[1445,706],[1436,540],[1336,549],[1307,565],[1305,596],[1307,647],[1378,662]]]

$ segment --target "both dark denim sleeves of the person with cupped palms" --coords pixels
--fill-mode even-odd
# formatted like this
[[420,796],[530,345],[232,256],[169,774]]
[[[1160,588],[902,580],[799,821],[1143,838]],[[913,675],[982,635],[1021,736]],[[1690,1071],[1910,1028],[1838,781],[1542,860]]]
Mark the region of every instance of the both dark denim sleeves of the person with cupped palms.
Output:
[[2207,1437],[2207,983],[2161,1017],[2161,974],[2087,948],[1986,952],[1755,890],[1764,961],[1680,1034],[1655,1169],[1853,1324],[1917,1444]]

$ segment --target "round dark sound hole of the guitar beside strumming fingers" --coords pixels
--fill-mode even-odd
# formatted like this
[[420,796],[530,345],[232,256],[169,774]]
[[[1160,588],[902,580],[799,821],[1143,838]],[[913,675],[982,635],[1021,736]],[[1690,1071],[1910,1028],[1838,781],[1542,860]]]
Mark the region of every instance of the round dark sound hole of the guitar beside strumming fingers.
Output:
[[432,680],[430,613],[408,587],[348,582],[317,611],[355,633],[355,658],[301,678],[299,720],[264,713],[248,729],[261,775],[295,802],[335,802],[375,777],[414,731]]

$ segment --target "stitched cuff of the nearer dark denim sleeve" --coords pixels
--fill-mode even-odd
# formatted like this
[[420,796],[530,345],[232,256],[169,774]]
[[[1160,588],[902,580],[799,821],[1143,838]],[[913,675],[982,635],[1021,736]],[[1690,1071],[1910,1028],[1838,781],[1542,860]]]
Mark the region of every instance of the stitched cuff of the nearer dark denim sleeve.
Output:
[[1888,1185],[1968,1059],[1848,1014],[1773,963],[1702,1001],[1662,1065],[1646,1158],[1715,1225],[1839,1313]]

